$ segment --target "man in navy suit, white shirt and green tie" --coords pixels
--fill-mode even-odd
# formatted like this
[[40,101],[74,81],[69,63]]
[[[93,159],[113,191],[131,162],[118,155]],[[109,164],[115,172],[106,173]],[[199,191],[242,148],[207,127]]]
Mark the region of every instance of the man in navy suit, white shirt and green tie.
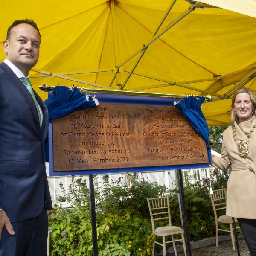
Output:
[[32,20],[16,20],[0,64],[0,256],[46,256],[52,209],[45,170],[48,111],[29,84],[41,35]]

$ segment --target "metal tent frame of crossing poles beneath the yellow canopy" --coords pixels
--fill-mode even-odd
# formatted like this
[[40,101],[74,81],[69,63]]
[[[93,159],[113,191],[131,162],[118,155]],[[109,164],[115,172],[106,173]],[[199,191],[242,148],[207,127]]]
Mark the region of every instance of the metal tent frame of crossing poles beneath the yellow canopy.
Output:
[[[235,70],[232,73],[224,74],[224,75],[218,75],[212,73],[210,70],[206,69],[205,67],[200,66],[200,64],[195,64],[199,65],[200,67],[204,68],[205,70],[209,71],[212,73],[211,78],[202,78],[198,80],[192,80],[192,81],[182,81],[182,82],[175,82],[175,81],[170,81],[169,79],[165,79],[163,77],[155,77],[151,76],[149,74],[143,74],[143,73],[137,73],[135,72],[137,65],[140,63],[141,59],[143,58],[143,55],[147,51],[147,49],[150,47],[151,44],[153,44],[157,39],[160,39],[164,43],[166,43],[161,37],[166,34],[172,27],[174,27],[177,23],[179,23],[181,20],[186,18],[191,12],[193,12],[196,8],[217,8],[215,6],[209,6],[208,4],[201,3],[201,2],[195,2],[195,1],[189,1],[187,0],[191,5],[189,6],[188,9],[186,9],[179,17],[177,17],[175,20],[173,20],[171,23],[168,24],[165,28],[161,29],[161,26],[163,25],[164,21],[166,20],[166,17],[168,17],[169,13],[171,12],[173,6],[175,6],[176,0],[172,0],[169,7],[166,9],[166,12],[164,13],[162,19],[160,22],[157,24],[156,29],[154,32],[152,32],[152,38],[145,42],[142,47],[137,49],[131,56],[126,58],[123,61],[120,61],[120,58],[118,56],[118,43],[117,43],[117,31],[116,31],[116,23],[118,22],[118,17],[116,14],[116,8],[117,8],[117,1],[116,0],[110,0],[110,6],[111,6],[111,15],[109,18],[112,19],[112,27],[113,27],[113,47],[114,47],[114,62],[115,62],[115,67],[109,67],[108,69],[99,69],[99,70],[87,70],[87,71],[81,71],[81,72],[70,72],[70,73],[52,73],[44,70],[38,70],[33,68],[32,71],[35,71],[39,73],[36,75],[32,75],[32,78],[35,77],[46,77],[46,76],[52,76],[56,78],[61,78],[65,79],[74,83],[79,83],[79,84],[87,84],[90,85],[94,88],[102,88],[102,89],[112,89],[113,83],[116,83],[116,86],[119,87],[119,90],[131,90],[129,88],[129,80],[131,79],[132,75],[135,76],[142,76],[148,79],[152,79],[154,81],[160,81],[162,84],[157,84],[157,85],[151,85],[151,86],[143,86],[143,87],[137,87],[135,91],[142,91],[142,90],[148,90],[148,89],[154,89],[154,88],[161,88],[161,87],[172,87],[172,86],[178,86],[182,88],[186,88],[189,90],[195,91],[198,95],[201,96],[212,96],[213,101],[218,101],[222,99],[230,99],[232,97],[233,93],[235,90],[244,87],[248,82],[252,81],[256,77],[256,65],[252,65],[250,67],[241,69],[241,70]],[[120,8],[120,7],[119,7]],[[133,18],[133,17],[132,17]],[[166,43],[167,44],[167,43]],[[169,47],[171,47],[169,45]],[[102,49],[103,50],[103,49]],[[137,59],[136,59],[137,58]],[[128,63],[129,61],[135,61],[133,64],[133,67],[131,70],[125,70],[123,66]],[[190,60],[192,61],[192,60]],[[97,83],[92,83],[89,81],[84,81],[81,79],[74,79],[73,77],[70,77],[70,75],[78,75],[78,74],[88,74],[88,73],[104,73],[104,72],[112,72],[113,76],[111,81],[109,81],[109,86],[105,86],[102,84],[97,84]],[[123,73],[127,73],[127,76],[125,78],[125,81],[121,83],[120,75]],[[212,83],[204,90],[196,87],[196,84],[198,82],[204,82],[204,81],[212,81]],[[194,84],[194,86],[190,86],[189,84]],[[231,86],[229,90],[225,93],[215,93],[215,88],[220,88],[220,87],[226,87],[226,86]],[[134,90],[134,89],[133,89]],[[227,123],[223,123],[226,125]]]

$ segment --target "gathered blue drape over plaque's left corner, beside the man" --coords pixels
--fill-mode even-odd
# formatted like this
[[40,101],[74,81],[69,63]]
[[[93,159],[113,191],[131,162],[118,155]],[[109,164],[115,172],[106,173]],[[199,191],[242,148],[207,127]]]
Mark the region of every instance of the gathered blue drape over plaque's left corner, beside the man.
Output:
[[[44,101],[49,111],[49,120],[66,116],[73,111],[97,107],[99,102],[90,95],[81,93],[78,88],[70,89],[66,86],[56,86],[52,97]],[[45,157],[49,160],[48,137],[45,142]]]

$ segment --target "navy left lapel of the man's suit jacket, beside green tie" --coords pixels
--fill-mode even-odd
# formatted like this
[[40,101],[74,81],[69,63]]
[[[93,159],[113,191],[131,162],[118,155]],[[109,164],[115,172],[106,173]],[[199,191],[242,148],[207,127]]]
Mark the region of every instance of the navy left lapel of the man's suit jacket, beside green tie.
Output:
[[31,109],[31,112],[38,124],[38,131],[41,133],[37,108],[35,106],[35,102],[31,94],[29,93],[29,90],[26,88],[26,86],[24,86],[23,82],[20,81],[20,79],[15,75],[15,73],[4,62],[2,62],[0,66],[5,71],[4,75],[6,76],[6,79],[9,80],[10,84],[12,84],[12,86],[15,87],[15,89],[20,93],[20,95],[23,97],[23,99],[25,99],[26,103],[29,105],[29,108]]

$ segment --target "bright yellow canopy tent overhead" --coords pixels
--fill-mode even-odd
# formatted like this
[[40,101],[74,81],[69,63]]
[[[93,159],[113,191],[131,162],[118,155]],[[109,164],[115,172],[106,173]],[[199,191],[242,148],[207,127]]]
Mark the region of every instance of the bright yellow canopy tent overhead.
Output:
[[[256,6],[254,0],[203,2],[3,2],[0,41],[15,19],[38,24],[41,53],[30,78],[43,99],[41,84],[212,96],[202,105],[208,125],[226,125],[234,90],[256,92]],[[213,6],[227,8],[223,3],[232,11]]]

